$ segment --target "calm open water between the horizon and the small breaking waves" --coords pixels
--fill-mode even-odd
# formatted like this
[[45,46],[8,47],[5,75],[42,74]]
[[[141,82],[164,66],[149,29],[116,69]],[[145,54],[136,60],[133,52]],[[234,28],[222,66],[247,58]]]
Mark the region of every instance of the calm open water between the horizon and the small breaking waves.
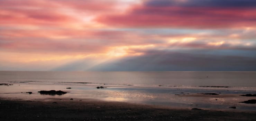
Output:
[[218,86],[256,89],[256,72],[36,72],[0,71],[1,83],[109,87]]

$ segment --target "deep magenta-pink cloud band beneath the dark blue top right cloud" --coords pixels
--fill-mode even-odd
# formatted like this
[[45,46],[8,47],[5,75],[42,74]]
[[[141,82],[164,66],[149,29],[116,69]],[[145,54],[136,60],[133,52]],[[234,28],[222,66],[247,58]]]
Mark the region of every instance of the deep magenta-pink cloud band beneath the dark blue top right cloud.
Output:
[[95,19],[118,27],[236,28],[256,25],[255,8],[134,6]]

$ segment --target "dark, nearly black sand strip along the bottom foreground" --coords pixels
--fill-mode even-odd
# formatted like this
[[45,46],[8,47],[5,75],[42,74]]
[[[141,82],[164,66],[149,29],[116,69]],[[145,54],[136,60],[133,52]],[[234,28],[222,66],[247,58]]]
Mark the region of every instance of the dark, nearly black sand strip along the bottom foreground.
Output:
[[94,100],[51,99],[25,101],[0,99],[0,120],[174,120],[254,121],[255,111],[170,109],[154,105]]

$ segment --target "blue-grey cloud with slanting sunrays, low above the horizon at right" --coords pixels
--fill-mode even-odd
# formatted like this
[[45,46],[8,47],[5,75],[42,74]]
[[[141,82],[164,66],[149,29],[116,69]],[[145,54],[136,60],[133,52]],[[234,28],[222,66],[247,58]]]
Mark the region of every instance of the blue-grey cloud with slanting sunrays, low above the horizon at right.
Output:
[[[204,50],[202,50],[204,51]],[[252,54],[252,53],[250,53]],[[253,54],[256,55],[256,52]],[[90,66],[92,60],[74,62],[55,71],[256,71],[256,57],[151,50],[143,56],[125,57]]]

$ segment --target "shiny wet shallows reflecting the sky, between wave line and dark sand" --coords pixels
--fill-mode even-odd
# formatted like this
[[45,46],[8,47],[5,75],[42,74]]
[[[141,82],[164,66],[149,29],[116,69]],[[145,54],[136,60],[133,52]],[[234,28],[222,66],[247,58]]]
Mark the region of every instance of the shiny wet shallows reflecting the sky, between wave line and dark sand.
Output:
[[[40,90],[61,90],[68,92],[65,95],[42,95],[38,93]],[[23,93],[21,93],[23,92]],[[27,94],[25,92],[33,92]],[[220,95],[203,95],[196,93],[221,93]],[[104,88],[96,89],[94,86],[72,86],[72,89],[66,89],[65,85],[12,85],[1,86],[1,97],[11,97],[25,100],[48,100],[52,98],[73,98],[74,100],[102,100],[102,101],[121,101],[130,103],[192,107],[193,108],[225,108],[230,106],[249,107],[241,104],[249,97],[239,96],[239,94],[247,94],[246,91],[227,91],[227,90],[194,90],[194,89],[164,89],[164,88]],[[256,91],[249,92],[256,93]],[[179,94],[179,95],[175,95]],[[210,105],[210,106],[209,106]],[[250,106],[256,110],[256,106]],[[246,109],[246,108],[245,108]]]

